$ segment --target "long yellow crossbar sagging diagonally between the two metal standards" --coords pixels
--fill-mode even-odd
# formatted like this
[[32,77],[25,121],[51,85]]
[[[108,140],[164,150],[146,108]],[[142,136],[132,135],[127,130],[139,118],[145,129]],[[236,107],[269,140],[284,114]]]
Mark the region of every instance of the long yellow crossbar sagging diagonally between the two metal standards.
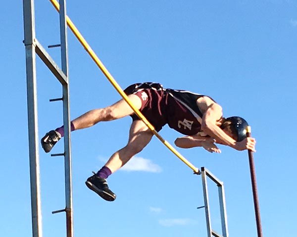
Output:
[[[60,10],[60,5],[56,0],[49,0],[55,9],[57,11]],[[148,126],[148,128],[152,131],[152,133],[178,158],[180,158],[185,164],[187,164],[191,169],[193,169],[194,173],[199,174],[200,171],[197,167],[195,167],[191,162],[189,162],[186,158],[184,158],[173,146],[171,146],[166,140],[164,140],[159,133],[154,129],[153,125],[150,124],[150,122],[147,120],[146,117],[133,105],[133,103],[130,101],[128,96],[125,94],[125,92],[122,90],[122,88],[119,86],[119,84],[116,82],[116,80],[111,76],[111,74],[107,71],[103,63],[100,61],[98,56],[95,54],[91,46],[88,44],[88,42],[84,39],[84,37],[81,35],[81,33],[78,31],[78,29],[75,27],[73,22],[70,20],[68,16],[66,16],[67,25],[69,26],[70,30],[73,32],[73,34],[76,36],[76,38],[80,41],[80,43],[84,46],[88,54],[91,56],[93,61],[97,64],[99,69],[102,71],[102,73],[105,75],[105,77],[109,80],[109,82],[113,85],[113,87],[117,90],[117,92],[123,97],[123,99],[129,104],[129,106],[133,109],[135,114],[143,120],[143,122]]]

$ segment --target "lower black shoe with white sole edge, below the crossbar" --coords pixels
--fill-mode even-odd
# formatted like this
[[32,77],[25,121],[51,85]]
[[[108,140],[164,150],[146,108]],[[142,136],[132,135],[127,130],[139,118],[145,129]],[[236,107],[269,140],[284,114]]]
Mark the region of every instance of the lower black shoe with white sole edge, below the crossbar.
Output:
[[87,179],[86,185],[106,201],[115,200],[116,195],[108,188],[106,179],[98,177],[95,173]]

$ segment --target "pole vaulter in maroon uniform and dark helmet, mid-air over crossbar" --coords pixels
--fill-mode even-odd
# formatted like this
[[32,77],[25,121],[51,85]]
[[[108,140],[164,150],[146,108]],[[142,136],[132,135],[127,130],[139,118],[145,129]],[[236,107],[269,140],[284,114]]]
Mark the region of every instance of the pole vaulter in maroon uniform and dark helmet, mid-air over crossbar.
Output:
[[[215,145],[217,143],[238,151],[255,151],[255,139],[246,136],[247,121],[240,117],[224,118],[221,106],[207,95],[165,89],[161,84],[153,82],[132,84],[124,91],[156,131],[168,124],[186,135],[175,140],[178,147],[203,147],[208,152],[220,153]],[[107,177],[141,152],[148,145],[153,133],[123,99],[111,106],[91,110],[71,121],[71,131],[74,131],[126,116],[133,119],[127,145],[115,152],[86,181],[88,188],[108,201],[113,201],[116,195],[109,189]],[[48,153],[63,136],[63,126],[46,133],[41,139],[45,152]]]

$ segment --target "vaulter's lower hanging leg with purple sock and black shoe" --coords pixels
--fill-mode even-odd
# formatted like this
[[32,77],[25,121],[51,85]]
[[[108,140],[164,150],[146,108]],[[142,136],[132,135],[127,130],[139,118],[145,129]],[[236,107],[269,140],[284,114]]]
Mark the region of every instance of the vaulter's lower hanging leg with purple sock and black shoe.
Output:
[[121,150],[115,152],[97,174],[89,177],[86,185],[107,201],[113,201],[116,195],[108,188],[106,178],[114,173],[134,155],[141,152],[149,143],[153,133],[141,120],[132,122],[128,144]]

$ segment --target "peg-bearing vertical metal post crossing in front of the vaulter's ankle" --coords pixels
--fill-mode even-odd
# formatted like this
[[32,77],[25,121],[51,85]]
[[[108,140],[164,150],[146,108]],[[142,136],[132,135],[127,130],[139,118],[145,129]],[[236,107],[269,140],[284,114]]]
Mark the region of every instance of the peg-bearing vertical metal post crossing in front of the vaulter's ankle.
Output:
[[[67,23],[66,1],[60,2],[60,40],[62,72],[68,79],[68,54],[67,54]],[[69,79],[68,79],[69,81]],[[70,108],[69,108],[69,83],[63,87],[63,123],[64,123],[64,163],[65,163],[65,201],[66,201],[66,228],[67,237],[73,237],[73,211],[72,211],[72,172],[71,172],[71,143],[70,143]]]

